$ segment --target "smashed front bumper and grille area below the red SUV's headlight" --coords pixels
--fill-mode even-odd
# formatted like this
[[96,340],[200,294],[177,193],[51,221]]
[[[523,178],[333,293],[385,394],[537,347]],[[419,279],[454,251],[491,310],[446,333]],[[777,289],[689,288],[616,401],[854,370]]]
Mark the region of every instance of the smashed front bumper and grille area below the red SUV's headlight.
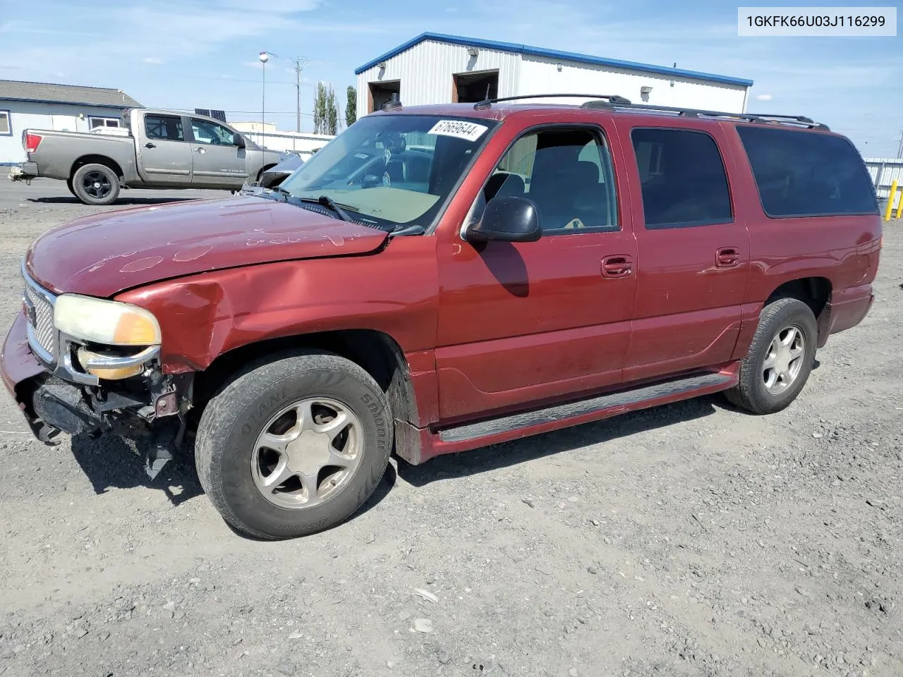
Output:
[[[143,360],[139,376],[100,381],[79,371],[72,339],[54,336],[57,357],[48,361],[46,351],[32,348],[29,329],[23,311],[5,338],[0,376],[34,436],[47,444],[58,444],[61,432],[146,442],[145,470],[154,478],[182,444],[187,404],[181,403],[188,401],[191,378],[163,376],[154,351],[135,357]],[[128,364],[127,358],[122,362]]]

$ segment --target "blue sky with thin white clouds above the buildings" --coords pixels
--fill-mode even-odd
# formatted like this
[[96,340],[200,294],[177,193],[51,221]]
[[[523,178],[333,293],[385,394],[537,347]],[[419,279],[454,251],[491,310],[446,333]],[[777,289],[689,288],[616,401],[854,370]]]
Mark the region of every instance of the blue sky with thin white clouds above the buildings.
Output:
[[[753,79],[750,111],[813,117],[848,134],[870,157],[894,157],[903,128],[903,37],[740,38],[737,6],[723,2],[42,0],[40,11],[4,5],[0,79],[121,88],[145,106],[223,108],[229,120],[257,120],[257,53],[266,50],[283,57],[266,67],[272,111],[266,117],[281,129],[293,129],[295,120],[287,58],[309,60],[302,85],[302,111],[309,113],[318,80],[330,82],[344,106],[356,67],[424,31],[676,61],[678,68]],[[302,126],[312,128],[310,115]]]

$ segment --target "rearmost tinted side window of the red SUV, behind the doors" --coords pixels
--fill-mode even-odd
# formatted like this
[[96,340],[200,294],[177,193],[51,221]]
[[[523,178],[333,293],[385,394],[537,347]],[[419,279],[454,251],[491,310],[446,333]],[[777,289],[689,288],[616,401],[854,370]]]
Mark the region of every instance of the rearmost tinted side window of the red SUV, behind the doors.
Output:
[[769,217],[877,214],[860,154],[842,136],[738,126]]

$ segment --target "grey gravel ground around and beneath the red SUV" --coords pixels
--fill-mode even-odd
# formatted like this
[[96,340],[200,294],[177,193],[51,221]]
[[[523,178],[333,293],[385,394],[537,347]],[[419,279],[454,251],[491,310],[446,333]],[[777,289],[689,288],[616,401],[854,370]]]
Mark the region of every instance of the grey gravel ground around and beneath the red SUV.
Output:
[[[2,184],[7,322],[29,242],[92,210]],[[787,411],[706,397],[393,461],[362,514],[291,542],[232,533],[191,459],[151,482],[116,441],[45,447],[4,397],[0,673],[903,674],[901,228]]]

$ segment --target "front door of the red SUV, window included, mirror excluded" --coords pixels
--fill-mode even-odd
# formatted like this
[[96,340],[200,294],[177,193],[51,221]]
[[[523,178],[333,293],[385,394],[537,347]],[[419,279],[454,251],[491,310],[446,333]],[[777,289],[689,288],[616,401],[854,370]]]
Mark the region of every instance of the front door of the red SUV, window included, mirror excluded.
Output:
[[620,382],[637,275],[617,195],[598,126],[539,127],[509,147],[471,218],[493,197],[524,197],[543,236],[482,245],[457,238],[438,252],[443,421]]

